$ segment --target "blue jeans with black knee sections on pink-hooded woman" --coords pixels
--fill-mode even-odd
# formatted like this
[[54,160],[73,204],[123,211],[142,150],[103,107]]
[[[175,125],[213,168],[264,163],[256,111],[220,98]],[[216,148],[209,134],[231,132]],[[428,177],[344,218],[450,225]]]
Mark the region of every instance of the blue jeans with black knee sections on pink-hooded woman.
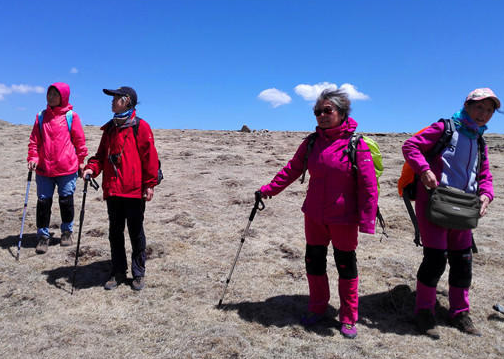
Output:
[[[75,192],[75,185],[77,182],[78,173],[72,173],[65,176],[57,176],[57,177],[46,177],[37,174],[36,182],[37,182],[37,197],[39,201],[50,200],[52,203],[52,197],[54,194],[54,188],[56,185],[58,186],[58,195],[61,198],[72,196],[72,220],[68,222],[61,223],[61,232],[73,232],[73,194]],[[60,203],[61,207],[61,203]],[[61,210],[62,208],[60,208]],[[39,210],[39,206],[37,206],[37,210]],[[49,216],[50,216],[50,207]],[[63,214],[63,213],[62,213]],[[37,216],[39,213],[37,213]],[[38,226],[37,226],[38,227]],[[37,236],[47,236],[49,237],[49,227],[39,227],[37,228]]]

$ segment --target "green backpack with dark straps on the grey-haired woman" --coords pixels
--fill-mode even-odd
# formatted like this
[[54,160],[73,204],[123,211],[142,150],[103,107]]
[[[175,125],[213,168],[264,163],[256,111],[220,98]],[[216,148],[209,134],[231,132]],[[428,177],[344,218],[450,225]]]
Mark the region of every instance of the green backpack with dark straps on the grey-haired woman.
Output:
[[[305,179],[305,174],[306,170],[308,168],[308,157],[310,156],[311,151],[313,150],[313,146],[315,144],[315,140],[317,139],[317,132],[313,132],[310,135],[308,135],[308,145],[304,157],[304,162],[303,162],[303,174],[301,175],[301,183],[304,183]],[[368,152],[368,150],[358,150],[357,145],[360,140],[363,140],[369,147],[369,151],[371,152],[371,158],[373,159],[373,165],[375,168],[375,175],[376,175],[376,183],[378,187],[378,195],[380,195],[380,182],[379,178],[383,173],[383,158],[380,152],[380,146],[378,146],[378,143],[376,143],[375,140],[373,140],[370,137],[361,135],[361,134],[356,134],[353,133],[352,137],[350,137],[350,140],[348,141],[348,147],[345,149],[344,153],[348,156],[348,159],[350,160],[350,163],[352,164],[352,168],[354,169],[354,174],[357,176],[357,152]],[[380,212],[380,207],[377,207],[376,210],[376,218],[378,219],[378,223],[380,224],[380,227],[382,228],[382,233],[385,237],[388,237],[387,233],[385,232],[385,220],[383,219],[383,216]]]

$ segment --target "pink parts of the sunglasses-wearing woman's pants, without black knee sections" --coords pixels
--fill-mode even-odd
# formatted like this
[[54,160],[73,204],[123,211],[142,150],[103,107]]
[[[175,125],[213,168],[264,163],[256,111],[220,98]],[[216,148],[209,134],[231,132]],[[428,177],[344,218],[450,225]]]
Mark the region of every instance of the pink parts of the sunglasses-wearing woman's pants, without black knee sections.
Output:
[[[306,243],[315,246],[334,247],[342,251],[354,251],[357,248],[357,230],[355,225],[323,225],[312,221],[305,215]],[[307,274],[310,301],[308,310],[322,314],[329,304],[330,291],[327,273],[323,275]],[[340,297],[339,319],[344,324],[355,324],[358,319],[359,278],[339,279],[338,292]]]

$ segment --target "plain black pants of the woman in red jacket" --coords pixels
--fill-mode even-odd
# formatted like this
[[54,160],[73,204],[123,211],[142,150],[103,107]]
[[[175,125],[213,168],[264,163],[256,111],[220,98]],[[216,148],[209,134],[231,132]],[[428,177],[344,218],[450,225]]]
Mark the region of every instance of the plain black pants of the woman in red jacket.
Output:
[[112,257],[112,273],[126,273],[128,263],[124,247],[124,227],[128,225],[131,241],[131,272],[133,277],[145,275],[145,233],[143,220],[145,200],[140,198],[107,198],[109,215],[109,242]]

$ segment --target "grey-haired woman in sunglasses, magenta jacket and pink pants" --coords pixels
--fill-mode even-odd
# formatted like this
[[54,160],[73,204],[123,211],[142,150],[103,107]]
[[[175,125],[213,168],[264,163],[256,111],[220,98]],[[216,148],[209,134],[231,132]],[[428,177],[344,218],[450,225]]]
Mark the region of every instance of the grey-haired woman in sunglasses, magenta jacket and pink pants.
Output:
[[348,117],[350,101],[345,92],[324,90],[313,112],[318,126],[312,149],[308,149],[310,139],[306,138],[289,163],[260,191],[263,198],[277,195],[301,176],[305,168],[308,169],[310,182],[302,211],[310,300],[308,312],[301,321],[304,325],[315,324],[327,309],[326,257],[327,247],[332,243],[339,274],[341,333],[347,338],[355,338],[359,283],[355,253],[357,233],[373,234],[375,230],[376,174],[364,141],[359,141],[357,146],[357,170],[352,168],[345,153],[357,128],[357,122]]

